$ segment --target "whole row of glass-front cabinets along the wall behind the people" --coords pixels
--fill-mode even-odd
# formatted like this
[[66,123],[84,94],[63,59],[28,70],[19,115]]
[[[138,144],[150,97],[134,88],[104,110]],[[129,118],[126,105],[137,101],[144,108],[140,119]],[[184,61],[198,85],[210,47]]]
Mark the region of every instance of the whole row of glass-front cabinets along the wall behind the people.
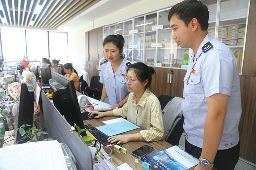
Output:
[[[208,33],[233,51],[241,73],[246,22],[250,0],[202,0],[209,10]],[[192,49],[182,48],[172,39],[168,21],[171,8],[144,14],[103,28],[124,36],[124,57],[156,67],[187,69]]]

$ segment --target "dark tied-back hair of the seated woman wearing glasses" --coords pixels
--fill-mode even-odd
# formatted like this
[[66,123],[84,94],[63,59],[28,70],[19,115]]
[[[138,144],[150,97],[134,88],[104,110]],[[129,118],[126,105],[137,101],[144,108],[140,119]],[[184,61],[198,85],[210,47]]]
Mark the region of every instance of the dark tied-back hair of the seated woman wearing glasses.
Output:
[[148,79],[148,84],[146,84],[145,87],[150,87],[152,75],[155,73],[155,70],[152,67],[149,67],[144,63],[134,63],[128,67],[127,72],[129,70],[134,71],[140,82],[145,82]]

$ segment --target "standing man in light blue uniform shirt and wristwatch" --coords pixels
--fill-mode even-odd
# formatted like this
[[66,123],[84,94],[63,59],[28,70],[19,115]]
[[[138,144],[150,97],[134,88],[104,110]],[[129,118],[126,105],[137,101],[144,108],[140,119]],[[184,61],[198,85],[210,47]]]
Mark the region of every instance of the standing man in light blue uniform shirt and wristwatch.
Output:
[[191,48],[184,78],[182,112],[185,150],[199,158],[195,170],[234,169],[240,143],[240,82],[237,61],[225,44],[207,32],[209,11],[198,0],[185,0],[170,9],[172,38]]

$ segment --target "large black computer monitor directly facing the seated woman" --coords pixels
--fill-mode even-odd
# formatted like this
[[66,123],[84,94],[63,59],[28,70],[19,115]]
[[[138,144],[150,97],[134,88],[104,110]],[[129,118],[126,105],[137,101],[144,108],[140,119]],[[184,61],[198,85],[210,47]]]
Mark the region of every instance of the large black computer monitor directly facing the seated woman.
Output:
[[[60,114],[65,117],[71,126],[76,123],[81,129],[84,128],[73,80],[52,72],[49,86],[53,92],[52,101]],[[86,132],[82,133],[82,136],[84,135],[86,135]]]

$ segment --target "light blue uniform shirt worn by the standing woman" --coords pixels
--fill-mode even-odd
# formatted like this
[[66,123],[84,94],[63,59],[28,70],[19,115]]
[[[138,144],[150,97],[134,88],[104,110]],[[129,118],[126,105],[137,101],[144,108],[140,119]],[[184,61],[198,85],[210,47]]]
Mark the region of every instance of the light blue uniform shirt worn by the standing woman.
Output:
[[110,105],[119,103],[129,93],[126,86],[125,77],[122,76],[122,74],[127,74],[126,63],[128,62],[129,61],[127,59],[123,59],[115,73],[113,72],[110,62],[106,62],[101,65],[100,83],[105,84],[109,101],[108,103]]

